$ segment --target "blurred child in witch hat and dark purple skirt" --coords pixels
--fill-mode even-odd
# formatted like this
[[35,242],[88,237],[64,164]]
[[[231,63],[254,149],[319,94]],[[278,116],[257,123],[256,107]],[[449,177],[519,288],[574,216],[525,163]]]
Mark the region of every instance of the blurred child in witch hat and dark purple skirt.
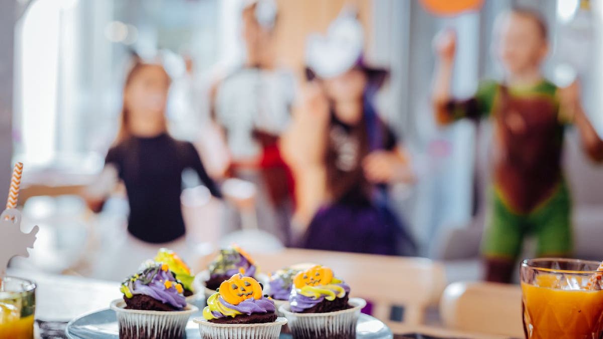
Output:
[[305,101],[282,141],[297,187],[300,246],[414,254],[387,206],[387,184],[412,180],[408,158],[373,106],[387,72],[362,62],[362,27],[352,13],[336,19],[327,37],[310,40],[306,55]]

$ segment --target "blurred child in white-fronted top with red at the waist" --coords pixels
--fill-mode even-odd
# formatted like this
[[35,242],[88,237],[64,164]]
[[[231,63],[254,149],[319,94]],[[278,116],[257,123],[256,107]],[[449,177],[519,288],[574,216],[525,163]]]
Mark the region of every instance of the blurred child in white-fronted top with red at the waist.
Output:
[[256,186],[257,226],[288,244],[293,185],[277,141],[291,118],[295,80],[289,69],[277,64],[276,2],[243,3],[245,60],[215,85],[212,117],[229,150],[226,176]]

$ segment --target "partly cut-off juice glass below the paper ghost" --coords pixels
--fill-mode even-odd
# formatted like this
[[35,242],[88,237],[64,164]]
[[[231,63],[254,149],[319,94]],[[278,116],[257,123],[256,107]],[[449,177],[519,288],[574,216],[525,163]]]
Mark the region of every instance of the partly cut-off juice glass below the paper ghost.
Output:
[[0,339],[33,339],[36,284],[17,277],[0,280]]

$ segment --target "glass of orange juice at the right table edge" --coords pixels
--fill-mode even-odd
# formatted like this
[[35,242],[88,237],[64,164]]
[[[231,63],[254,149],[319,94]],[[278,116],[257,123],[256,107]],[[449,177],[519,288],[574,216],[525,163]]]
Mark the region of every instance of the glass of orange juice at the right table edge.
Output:
[[[521,264],[526,339],[603,338],[603,284],[597,261],[526,259]],[[601,272],[599,272],[601,273]]]

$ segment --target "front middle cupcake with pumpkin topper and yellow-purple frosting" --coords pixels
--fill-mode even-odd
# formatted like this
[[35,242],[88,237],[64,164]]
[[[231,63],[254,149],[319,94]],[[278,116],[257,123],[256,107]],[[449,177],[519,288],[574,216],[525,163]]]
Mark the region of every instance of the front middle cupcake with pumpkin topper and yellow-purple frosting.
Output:
[[203,318],[194,321],[202,338],[278,338],[286,319],[275,312],[259,282],[237,273],[220,284],[207,299]]

